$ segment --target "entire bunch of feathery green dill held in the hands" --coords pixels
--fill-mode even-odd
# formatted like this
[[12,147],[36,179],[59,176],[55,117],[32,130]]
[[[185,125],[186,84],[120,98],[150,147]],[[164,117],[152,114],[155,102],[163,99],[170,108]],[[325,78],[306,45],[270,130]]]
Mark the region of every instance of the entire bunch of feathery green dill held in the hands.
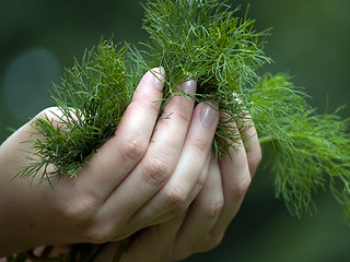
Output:
[[[225,1],[149,0],[144,10],[143,28],[150,39],[142,49],[102,39],[82,62],[75,60],[67,69],[52,94],[60,121],[55,126],[48,118],[34,121],[36,133],[45,138],[33,142],[39,160],[19,176],[36,176],[43,167],[42,180],[50,182],[62,174],[79,176],[90,156],[114,135],[141,75],[164,67],[163,108],[175,95],[187,95],[178,85],[195,79],[198,94],[192,98],[219,105],[226,116],[213,141],[217,157],[226,155],[240,135],[230,122],[247,118],[248,111],[262,150],[272,156],[276,195],[290,212],[299,217],[312,214],[313,193],[329,187],[350,224],[349,119],[337,111],[318,115],[288,74],[258,73],[271,61],[264,52],[269,31],[256,32],[255,21],[247,14],[236,17],[238,9]],[[46,171],[48,165],[57,169]],[[68,257],[63,261],[72,261]]]

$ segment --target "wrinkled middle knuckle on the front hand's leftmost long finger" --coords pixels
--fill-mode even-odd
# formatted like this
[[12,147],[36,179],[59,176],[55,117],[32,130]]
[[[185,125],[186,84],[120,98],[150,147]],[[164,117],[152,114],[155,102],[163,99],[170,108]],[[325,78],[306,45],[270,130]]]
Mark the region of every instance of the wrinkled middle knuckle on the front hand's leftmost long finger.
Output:
[[120,153],[126,157],[127,160],[138,162],[144,155],[148,142],[141,136],[128,136],[119,140]]

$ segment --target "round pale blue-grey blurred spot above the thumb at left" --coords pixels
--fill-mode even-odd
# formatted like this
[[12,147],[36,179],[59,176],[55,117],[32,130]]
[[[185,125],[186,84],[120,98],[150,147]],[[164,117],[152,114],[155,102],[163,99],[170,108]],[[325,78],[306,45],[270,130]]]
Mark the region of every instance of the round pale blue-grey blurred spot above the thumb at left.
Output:
[[11,114],[24,121],[48,107],[49,86],[58,82],[61,66],[47,49],[28,50],[15,57],[4,73],[4,102]]

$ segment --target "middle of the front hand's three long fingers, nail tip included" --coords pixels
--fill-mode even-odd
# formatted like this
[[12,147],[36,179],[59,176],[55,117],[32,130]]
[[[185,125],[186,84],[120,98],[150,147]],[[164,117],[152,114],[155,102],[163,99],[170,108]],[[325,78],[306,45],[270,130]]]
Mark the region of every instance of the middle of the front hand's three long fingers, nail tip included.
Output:
[[[195,94],[195,81],[180,86],[184,92]],[[152,142],[130,175],[116,188],[106,202],[114,216],[122,211],[133,214],[147,203],[170,179],[179,158],[194,110],[194,100],[185,96],[175,96],[164,108],[164,116],[156,126]],[[120,196],[122,195],[122,198]],[[125,201],[127,199],[128,201]],[[113,209],[119,206],[119,211]],[[152,216],[158,215],[153,213]],[[143,219],[143,223],[144,219]]]

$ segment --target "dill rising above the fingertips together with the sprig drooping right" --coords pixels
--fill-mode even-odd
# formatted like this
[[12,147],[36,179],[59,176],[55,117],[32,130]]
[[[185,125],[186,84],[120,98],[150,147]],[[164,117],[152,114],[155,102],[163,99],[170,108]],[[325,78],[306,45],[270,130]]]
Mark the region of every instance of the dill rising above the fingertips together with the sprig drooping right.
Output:
[[148,1],[143,28],[150,40],[141,51],[131,51],[131,74],[164,67],[165,104],[182,92],[178,85],[185,79],[195,79],[195,99],[219,105],[225,116],[213,141],[219,158],[241,139],[242,132],[230,129],[230,123],[244,122],[248,111],[260,143],[267,145],[262,148],[272,150],[276,195],[290,212],[312,214],[312,194],[329,182],[350,223],[349,120],[336,112],[317,115],[288,74],[259,75],[257,70],[271,61],[264,52],[269,31],[256,32],[255,21],[247,14],[236,17],[237,11],[218,0]]

